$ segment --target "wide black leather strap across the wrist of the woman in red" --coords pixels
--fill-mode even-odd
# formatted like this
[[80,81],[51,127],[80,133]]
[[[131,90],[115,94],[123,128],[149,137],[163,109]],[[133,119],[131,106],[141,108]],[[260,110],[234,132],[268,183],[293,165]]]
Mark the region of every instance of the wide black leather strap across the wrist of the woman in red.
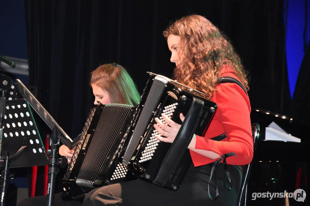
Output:
[[203,101],[193,98],[190,110],[185,116],[183,124],[175,137],[175,141],[173,141],[170,146],[170,149],[168,150],[160,170],[158,171],[156,178],[153,180],[153,183],[164,186],[169,178],[169,175],[179,164],[189,143],[192,141],[203,106]]

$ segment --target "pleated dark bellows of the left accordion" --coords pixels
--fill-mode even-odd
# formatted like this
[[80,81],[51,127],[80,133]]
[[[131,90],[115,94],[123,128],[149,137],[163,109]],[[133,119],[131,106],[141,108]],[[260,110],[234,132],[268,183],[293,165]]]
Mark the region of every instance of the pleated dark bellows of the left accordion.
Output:
[[118,137],[131,113],[131,107],[124,104],[107,104],[103,108],[91,142],[88,142],[89,147],[77,176],[78,185],[93,187],[100,171],[107,169],[103,167],[110,165],[111,159],[107,157],[113,154],[114,159],[118,155],[116,152],[121,147]]

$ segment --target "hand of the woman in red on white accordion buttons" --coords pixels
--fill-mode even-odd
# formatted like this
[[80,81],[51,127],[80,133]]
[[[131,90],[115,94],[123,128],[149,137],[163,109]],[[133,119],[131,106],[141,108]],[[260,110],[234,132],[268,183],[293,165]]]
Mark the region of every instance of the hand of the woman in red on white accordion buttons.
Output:
[[[166,124],[162,123],[162,121],[159,120],[158,118],[155,118],[155,121],[157,122],[158,125],[154,124],[154,128],[158,131],[160,135],[155,135],[154,137],[156,137],[160,141],[172,143],[176,135],[178,134],[181,125],[172,121],[165,114],[162,114],[162,118],[166,122]],[[180,119],[182,122],[185,119],[185,116],[182,113],[180,113]]]

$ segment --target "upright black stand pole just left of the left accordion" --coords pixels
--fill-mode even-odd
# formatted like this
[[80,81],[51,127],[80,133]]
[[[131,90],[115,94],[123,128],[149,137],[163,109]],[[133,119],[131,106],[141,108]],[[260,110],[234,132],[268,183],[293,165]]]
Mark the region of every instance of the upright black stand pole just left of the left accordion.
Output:
[[58,150],[60,141],[58,139],[57,128],[54,127],[52,134],[48,135],[50,149],[47,150],[47,155],[50,157],[50,163],[48,164],[48,183],[47,183],[47,206],[54,205],[54,193],[55,193],[55,181],[58,172]]

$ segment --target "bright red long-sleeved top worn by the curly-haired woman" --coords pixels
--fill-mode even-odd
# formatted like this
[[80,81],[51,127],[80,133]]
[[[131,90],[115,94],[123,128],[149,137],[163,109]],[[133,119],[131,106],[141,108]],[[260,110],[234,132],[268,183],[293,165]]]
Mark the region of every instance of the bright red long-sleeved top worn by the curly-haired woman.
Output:
[[[219,76],[239,80],[230,67],[222,69]],[[213,151],[220,156],[234,152],[237,157],[226,158],[228,165],[249,164],[253,158],[253,137],[248,96],[236,83],[220,83],[211,100],[218,105],[218,108],[204,137],[196,135],[195,149]],[[210,139],[223,133],[226,133],[227,138],[222,141]],[[190,153],[194,166],[206,165],[217,160],[192,150]]]

